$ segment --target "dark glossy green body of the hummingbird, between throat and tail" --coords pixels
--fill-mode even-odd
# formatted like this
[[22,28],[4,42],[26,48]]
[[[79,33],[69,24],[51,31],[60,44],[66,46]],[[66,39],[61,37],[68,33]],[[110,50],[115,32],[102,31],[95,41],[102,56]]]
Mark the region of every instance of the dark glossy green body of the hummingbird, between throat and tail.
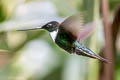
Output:
[[70,33],[65,32],[63,29],[59,29],[55,42],[67,52],[73,52],[72,44],[75,42],[75,39]]

